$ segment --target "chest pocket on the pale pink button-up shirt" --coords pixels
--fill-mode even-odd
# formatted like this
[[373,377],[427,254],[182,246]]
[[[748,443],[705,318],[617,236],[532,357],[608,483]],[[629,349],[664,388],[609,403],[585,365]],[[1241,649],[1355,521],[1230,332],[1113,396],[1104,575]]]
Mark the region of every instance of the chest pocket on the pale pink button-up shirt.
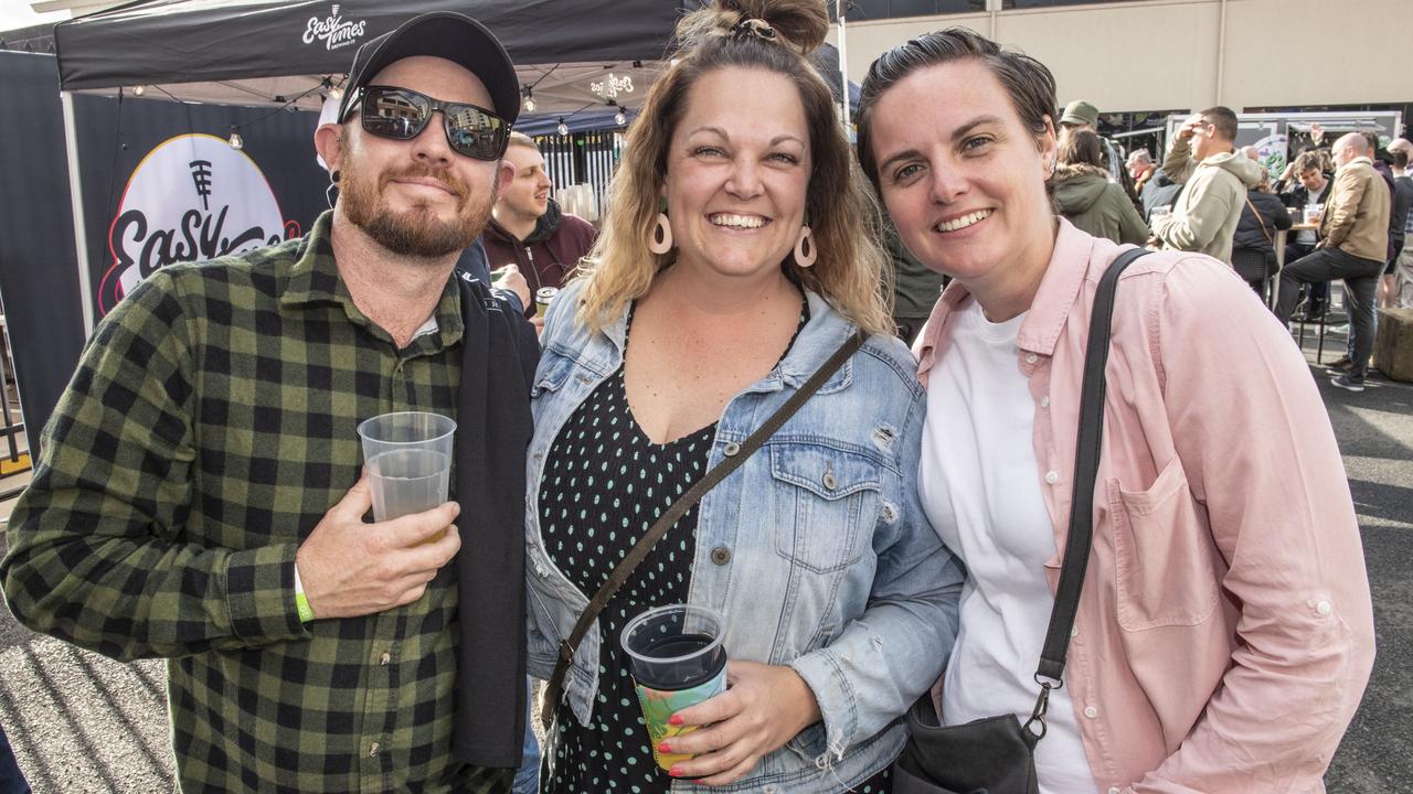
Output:
[[1142,632],[1211,617],[1221,595],[1211,531],[1181,459],[1174,455],[1147,490],[1109,479],[1108,497],[1119,626]]

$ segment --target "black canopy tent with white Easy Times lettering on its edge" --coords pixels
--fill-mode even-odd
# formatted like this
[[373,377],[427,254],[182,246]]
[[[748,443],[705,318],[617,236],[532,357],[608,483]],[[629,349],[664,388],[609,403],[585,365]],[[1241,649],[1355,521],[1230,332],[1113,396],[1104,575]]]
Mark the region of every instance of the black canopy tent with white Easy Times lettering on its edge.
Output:
[[[697,0],[138,0],[55,25],[85,335],[93,331],[75,92],[160,86],[184,102],[318,110],[357,47],[425,11],[489,27],[534,86],[540,113],[636,107],[664,66],[677,20]],[[613,81],[633,90],[601,96]],[[605,86],[608,83],[608,86]],[[598,93],[595,92],[598,89]]]

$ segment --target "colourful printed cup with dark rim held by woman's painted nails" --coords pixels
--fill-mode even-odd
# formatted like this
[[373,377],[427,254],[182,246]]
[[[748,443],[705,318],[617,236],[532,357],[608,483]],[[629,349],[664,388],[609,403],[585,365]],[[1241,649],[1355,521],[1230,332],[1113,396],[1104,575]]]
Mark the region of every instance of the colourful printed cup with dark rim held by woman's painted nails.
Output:
[[726,648],[721,644],[725,629],[719,613],[687,603],[650,609],[623,627],[623,650],[633,671],[649,743],[657,766],[664,770],[695,757],[658,752],[664,739],[697,729],[667,721],[726,691]]

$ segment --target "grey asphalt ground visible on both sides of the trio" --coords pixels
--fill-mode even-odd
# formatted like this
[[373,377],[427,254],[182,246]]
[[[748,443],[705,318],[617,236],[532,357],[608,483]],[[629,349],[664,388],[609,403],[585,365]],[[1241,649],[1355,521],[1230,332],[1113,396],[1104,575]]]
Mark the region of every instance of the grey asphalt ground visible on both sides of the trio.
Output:
[[[1342,349],[1325,342],[1324,359]],[[1332,352],[1331,352],[1332,350]],[[1314,343],[1307,343],[1314,362]],[[1413,384],[1354,394],[1313,366],[1344,452],[1378,632],[1378,660],[1325,777],[1344,794],[1413,793]],[[3,550],[0,538],[0,550]],[[35,794],[174,791],[165,667],[123,664],[18,626],[0,609],[0,725]]]

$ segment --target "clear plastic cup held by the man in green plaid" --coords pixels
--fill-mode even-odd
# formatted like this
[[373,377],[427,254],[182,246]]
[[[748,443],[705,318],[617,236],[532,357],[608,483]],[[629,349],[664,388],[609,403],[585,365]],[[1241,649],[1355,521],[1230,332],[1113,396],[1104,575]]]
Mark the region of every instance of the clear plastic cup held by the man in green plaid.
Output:
[[376,520],[422,513],[447,502],[455,431],[449,417],[425,411],[382,414],[357,425]]

